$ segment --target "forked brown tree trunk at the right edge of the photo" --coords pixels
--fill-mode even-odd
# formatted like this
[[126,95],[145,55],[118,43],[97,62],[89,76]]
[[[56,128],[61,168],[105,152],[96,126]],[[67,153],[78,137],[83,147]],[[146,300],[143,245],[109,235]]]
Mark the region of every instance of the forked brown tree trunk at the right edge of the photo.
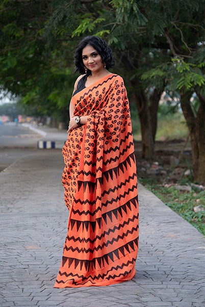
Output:
[[192,147],[192,164],[194,180],[205,183],[205,155],[204,155],[204,101],[200,101],[200,107],[196,117],[191,109],[191,92],[181,93],[181,107],[190,131]]

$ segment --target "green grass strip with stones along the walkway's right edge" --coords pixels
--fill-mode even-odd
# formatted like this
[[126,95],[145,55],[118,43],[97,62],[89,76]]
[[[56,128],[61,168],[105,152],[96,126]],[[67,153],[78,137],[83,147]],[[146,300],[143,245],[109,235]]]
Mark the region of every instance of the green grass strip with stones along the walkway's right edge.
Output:
[[150,179],[142,179],[140,182],[205,236],[205,211],[194,212],[194,207],[199,204],[205,208],[205,191],[193,187],[190,192],[179,191],[174,187],[163,187]]

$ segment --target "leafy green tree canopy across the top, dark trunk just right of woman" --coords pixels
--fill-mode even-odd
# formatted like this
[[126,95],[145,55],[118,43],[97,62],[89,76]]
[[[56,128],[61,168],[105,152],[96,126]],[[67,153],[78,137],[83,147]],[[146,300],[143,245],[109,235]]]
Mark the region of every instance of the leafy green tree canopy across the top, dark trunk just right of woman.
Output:
[[[35,101],[45,112],[67,108],[75,45],[85,35],[101,36],[115,52],[116,71],[122,72],[132,88],[141,123],[143,157],[153,158],[158,103],[168,84],[168,72],[159,68],[149,84],[141,76],[162,63],[172,63],[174,68],[173,57],[185,63],[193,59],[198,65],[195,59],[200,55],[197,46],[203,42],[204,1],[4,1],[0,5],[0,83],[20,93],[23,101]],[[65,67],[70,70],[65,72]]]

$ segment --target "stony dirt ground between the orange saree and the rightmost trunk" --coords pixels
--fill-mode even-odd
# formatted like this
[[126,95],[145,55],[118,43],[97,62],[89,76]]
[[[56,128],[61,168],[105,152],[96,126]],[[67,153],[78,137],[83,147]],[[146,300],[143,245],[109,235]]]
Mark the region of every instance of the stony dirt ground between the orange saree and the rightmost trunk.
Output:
[[189,142],[185,148],[184,145],[185,140],[183,139],[156,141],[155,159],[151,161],[141,158],[141,142],[135,141],[138,177],[167,183],[176,183],[184,177],[191,179],[191,145]]

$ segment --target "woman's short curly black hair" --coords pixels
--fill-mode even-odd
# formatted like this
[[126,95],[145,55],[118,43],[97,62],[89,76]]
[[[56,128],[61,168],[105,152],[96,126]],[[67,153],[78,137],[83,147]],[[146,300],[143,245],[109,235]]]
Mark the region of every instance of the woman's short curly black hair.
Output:
[[[115,65],[112,50],[107,45],[107,43],[98,36],[86,36],[80,41],[78,47],[76,47],[75,49],[74,53],[75,72],[78,71],[81,74],[85,73],[82,52],[87,45],[90,45],[95,50],[97,50],[98,54],[102,59],[102,63],[106,64],[106,69],[112,68]],[[91,74],[91,71],[89,69],[87,70],[87,74]]]

